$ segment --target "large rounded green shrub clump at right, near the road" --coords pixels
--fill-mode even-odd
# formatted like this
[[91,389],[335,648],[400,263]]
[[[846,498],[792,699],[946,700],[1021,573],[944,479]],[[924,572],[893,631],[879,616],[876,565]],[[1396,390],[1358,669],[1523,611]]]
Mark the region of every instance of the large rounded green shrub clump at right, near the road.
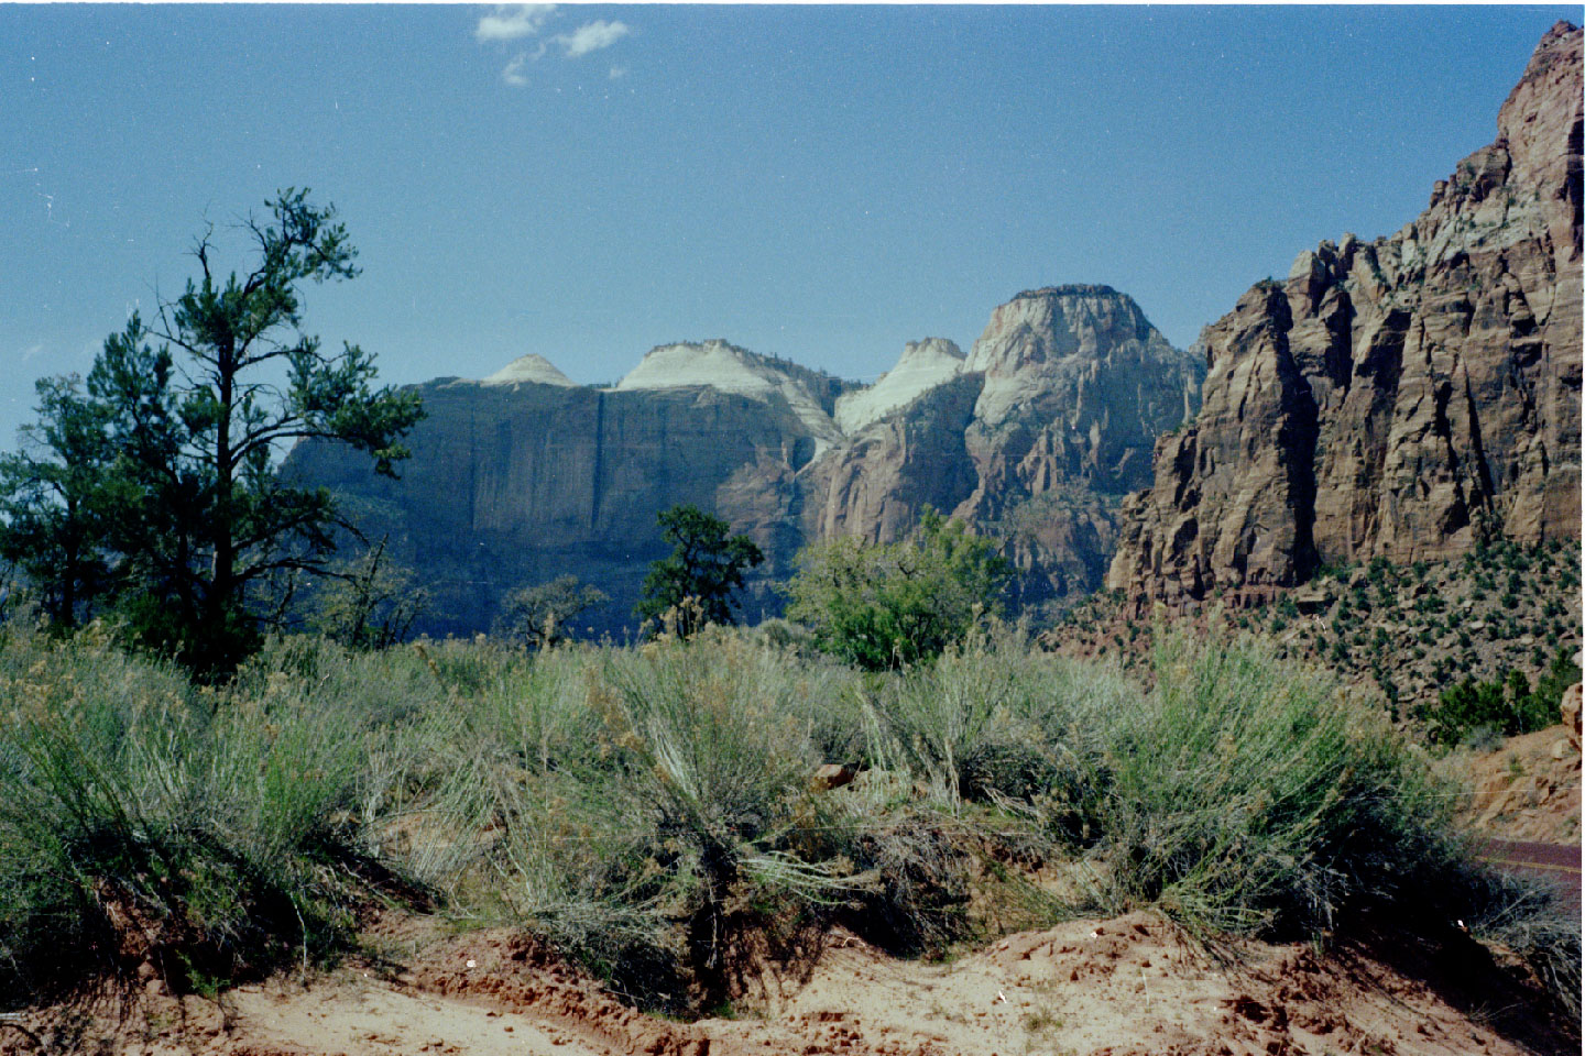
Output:
[[1155,676],[1136,708],[1089,712],[1116,902],[1292,936],[1425,898],[1453,853],[1449,800],[1379,709],[1247,636],[1163,635]]

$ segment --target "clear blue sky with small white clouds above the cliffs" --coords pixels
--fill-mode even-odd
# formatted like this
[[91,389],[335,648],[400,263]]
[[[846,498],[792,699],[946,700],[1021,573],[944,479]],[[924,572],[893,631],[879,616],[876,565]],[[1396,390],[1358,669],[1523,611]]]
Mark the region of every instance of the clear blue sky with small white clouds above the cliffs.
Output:
[[1560,17],[0,5],[0,446],[206,218],[288,185],[365,268],[307,329],[393,382],[529,351],[610,382],[705,337],[873,377],[1062,282],[1187,345],[1319,239],[1414,218]]

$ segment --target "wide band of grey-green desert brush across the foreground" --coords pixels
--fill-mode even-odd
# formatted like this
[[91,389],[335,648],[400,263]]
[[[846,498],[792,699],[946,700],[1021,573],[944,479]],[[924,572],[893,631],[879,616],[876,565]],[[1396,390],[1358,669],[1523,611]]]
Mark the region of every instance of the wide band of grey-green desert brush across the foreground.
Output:
[[[682,1015],[834,925],[930,956],[1140,906],[1208,937],[1461,918],[1577,980],[1577,934],[1469,864],[1379,706],[1254,640],[1155,641],[1149,690],[994,622],[897,671],[734,629],[534,652],[279,638],[216,687],[13,621],[0,993],[301,966],[391,880]],[[818,788],[823,763],[856,777]]]

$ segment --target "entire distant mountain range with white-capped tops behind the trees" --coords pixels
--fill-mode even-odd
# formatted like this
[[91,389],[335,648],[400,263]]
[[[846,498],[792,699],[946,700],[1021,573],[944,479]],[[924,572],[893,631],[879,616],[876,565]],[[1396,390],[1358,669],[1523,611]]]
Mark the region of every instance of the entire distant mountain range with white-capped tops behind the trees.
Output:
[[661,345],[609,389],[525,356],[420,386],[430,416],[399,481],[325,443],[284,472],[390,535],[436,594],[430,633],[485,630],[506,591],[564,573],[612,595],[590,625],[620,630],[666,553],[655,515],[680,502],[766,551],[750,619],[780,611],[770,583],[804,545],[891,541],[926,505],[1002,535],[1041,600],[1100,584],[1113,508],[1200,372],[1125,294],[1057,287],[997,309],[972,355],[913,342],[867,388],[723,340]]

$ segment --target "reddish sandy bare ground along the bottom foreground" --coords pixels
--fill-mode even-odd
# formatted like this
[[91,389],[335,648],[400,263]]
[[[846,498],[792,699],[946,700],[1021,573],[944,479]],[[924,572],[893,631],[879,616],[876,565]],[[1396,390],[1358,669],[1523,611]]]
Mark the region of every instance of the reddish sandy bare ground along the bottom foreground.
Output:
[[[764,971],[735,1018],[639,1013],[504,929],[404,921],[404,964],[352,961],[311,978],[0,1023],[0,1053],[147,1056],[1279,1056],[1579,1053],[1523,1012],[1525,993],[1472,940],[1436,950],[1335,940],[1244,945],[1217,963],[1149,914],[1011,936],[948,964],[900,961],[835,933],[799,977]],[[1369,953],[1387,948],[1390,956]],[[25,1028],[27,1032],[24,1032]]]

